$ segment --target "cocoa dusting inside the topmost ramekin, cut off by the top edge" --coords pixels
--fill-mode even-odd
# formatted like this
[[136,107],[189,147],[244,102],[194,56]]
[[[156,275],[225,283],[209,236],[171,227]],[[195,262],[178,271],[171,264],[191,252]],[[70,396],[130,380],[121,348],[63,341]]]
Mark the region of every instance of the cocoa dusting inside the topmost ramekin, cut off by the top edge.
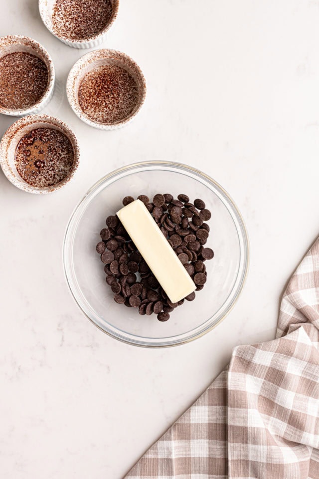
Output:
[[55,32],[72,40],[95,36],[109,23],[110,0],[56,0],[52,23]]

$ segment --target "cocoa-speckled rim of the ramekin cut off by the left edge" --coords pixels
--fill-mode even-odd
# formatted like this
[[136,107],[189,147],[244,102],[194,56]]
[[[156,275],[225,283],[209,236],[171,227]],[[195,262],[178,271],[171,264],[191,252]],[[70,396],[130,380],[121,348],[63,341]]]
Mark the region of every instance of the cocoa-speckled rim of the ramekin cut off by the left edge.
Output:
[[53,89],[54,89],[54,82],[55,82],[55,69],[54,69],[54,64],[53,60],[51,58],[51,55],[49,52],[44,48],[41,43],[38,41],[34,40],[33,38],[25,35],[4,35],[0,37],[0,42],[5,41],[5,40],[11,40],[12,44],[16,43],[17,45],[21,44],[23,45],[24,42],[28,42],[32,48],[34,48],[34,51],[38,49],[42,55],[43,58],[46,59],[47,61],[47,69],[48,69],[48,84],[47,87],[41,96],[41,98],[34,103],[34,105],[31,105],[27,108],[22,108],[20,110],[11,110],[9,108],[4,108],[0,106],[0,113],[2,115],[9,115],[9,116],[23,116],[23,115],[29,115],[32,113],[37,113],[39,110],[44,108],[46,104],[50,101],[51,95],[53,94]]

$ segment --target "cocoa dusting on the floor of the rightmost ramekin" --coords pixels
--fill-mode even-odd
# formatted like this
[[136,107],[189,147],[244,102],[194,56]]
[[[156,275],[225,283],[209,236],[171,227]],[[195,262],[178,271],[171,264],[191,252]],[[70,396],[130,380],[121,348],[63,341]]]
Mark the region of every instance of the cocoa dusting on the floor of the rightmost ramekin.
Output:
[[133,76],[117,65],[90,71],[79,87],[83,112],[98,123],[116,123],[129,117],[137,106],[138,86]]

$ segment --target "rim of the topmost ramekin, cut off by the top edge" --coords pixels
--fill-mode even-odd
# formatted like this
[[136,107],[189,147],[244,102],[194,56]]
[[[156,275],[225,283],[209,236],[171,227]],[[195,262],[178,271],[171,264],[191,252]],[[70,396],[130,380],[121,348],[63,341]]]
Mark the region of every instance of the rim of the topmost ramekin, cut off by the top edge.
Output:
[[104,36],[108,32],[108,30],[111,28],[111,26],[113,25],[113,23],[115,22],[115,20],[118,16],[120,0],[114,0],[113,1],[112,16],[111,16],[109,22],[103,28],[103,30],[99,31],[98,33],[96,33],[93,36],[88,36],[87,38],[69,38],[67,36],[57,34],[54,31],[54,28],[51,27],[51,24],[48,20],[47,0],[39,0],[38,3],[39,3],[38,6],[39,6],[39,12],[40,12],[41,20],[43,21],[44,25],[49,30],[49,32],[52,33],[52,35],[54,35],[59,40],[65,42],[65,43],[70,43],[70,45],[72,45],[72,46],[77,46],[78,45],[81,48],[81,47],[86,46],[86,44],[88,44],[87,46],[89,47],[90,46],[89,43],[91,43],[92,41],[94,42],[94,41],[102,40],[104,38]]

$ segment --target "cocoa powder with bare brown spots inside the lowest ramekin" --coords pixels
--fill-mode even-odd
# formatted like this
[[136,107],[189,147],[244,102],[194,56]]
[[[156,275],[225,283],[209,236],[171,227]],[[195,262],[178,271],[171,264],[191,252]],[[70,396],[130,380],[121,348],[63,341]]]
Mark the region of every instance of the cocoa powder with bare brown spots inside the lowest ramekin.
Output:
[[74,151],[70,140],[54,128],[36,128],[19,141],[15,166],[21,178],[37,188],[57,185],[71,172]]

